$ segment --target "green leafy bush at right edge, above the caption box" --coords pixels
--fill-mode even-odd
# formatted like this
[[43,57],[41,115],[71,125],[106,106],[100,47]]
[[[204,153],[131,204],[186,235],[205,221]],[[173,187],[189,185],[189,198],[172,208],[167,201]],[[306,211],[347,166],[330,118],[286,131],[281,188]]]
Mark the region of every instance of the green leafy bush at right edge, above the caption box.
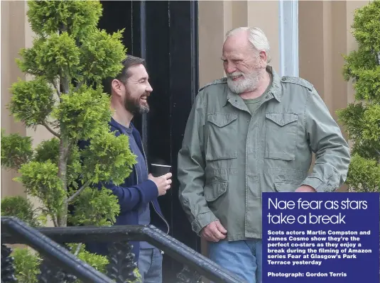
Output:
[[347,185],[354,192],[380,192],[380,1],[357,9],[352,24],[358,48],[343,68],[355,101],[337,111],[352,142]]

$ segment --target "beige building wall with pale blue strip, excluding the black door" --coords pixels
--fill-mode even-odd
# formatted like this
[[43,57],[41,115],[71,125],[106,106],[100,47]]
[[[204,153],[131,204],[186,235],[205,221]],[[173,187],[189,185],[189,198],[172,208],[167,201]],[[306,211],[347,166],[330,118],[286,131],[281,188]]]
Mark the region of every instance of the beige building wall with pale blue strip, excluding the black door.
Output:
[[[219,60],[224,34],[238,26],[259,26],[271,43],[272,65],[281,75],[308,79],[319,91],[332,115],[353,99],[352,85],[342,78],[347,54],[357,47],[350,33],[354,9],[365,1],[199,1],[197,11],[199,86],[224,76]],[[9,116],[9,87],[25,74],[15,58],[32,45],[33,32],[26,18],[26,2],[1,1],[1,128],[30,135],[36,144],[50,138],[43,127],[26,129]],[[1,194],[22,194],[1,171]]]

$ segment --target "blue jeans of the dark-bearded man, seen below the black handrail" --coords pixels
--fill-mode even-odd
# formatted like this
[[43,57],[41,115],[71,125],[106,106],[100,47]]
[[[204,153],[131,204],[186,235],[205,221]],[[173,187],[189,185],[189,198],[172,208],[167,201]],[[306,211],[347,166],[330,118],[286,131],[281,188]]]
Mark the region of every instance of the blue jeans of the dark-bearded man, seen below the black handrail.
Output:
[[139,255],[139,272],[141,283],[162,282],[163,255],[158,248],[141,249]]

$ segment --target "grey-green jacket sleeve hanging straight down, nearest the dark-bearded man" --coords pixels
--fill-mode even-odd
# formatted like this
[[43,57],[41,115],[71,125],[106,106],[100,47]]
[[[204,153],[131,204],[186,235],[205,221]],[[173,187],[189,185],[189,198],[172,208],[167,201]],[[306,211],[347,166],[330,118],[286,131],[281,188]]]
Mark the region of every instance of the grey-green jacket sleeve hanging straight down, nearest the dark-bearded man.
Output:
[[202,228],[217,220],[207,206],[205,187],[205,101],[197,95],[185,128],[182,148],[178,152],[179,199],[198,235]]

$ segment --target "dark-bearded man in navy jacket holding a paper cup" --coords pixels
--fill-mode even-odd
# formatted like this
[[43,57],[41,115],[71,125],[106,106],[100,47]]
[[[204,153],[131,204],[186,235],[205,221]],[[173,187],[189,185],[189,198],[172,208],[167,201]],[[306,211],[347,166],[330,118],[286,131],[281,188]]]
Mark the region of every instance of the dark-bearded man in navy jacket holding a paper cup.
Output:
[[[113,116],[110,130],[115,135],[128,135],[131,152],[136,155],[133,172],[125,179],[124,184],[116,186],[112,182],[104,185],[118,196],[120,214],[116,216],[115,225],[148,225],[152,224],[168,233],[168,222],[165,221],[157,198],[170,189],[171,173],[161,177],[148,174],[146,156],[141,143],[141,136],[131,123],[136,114],[148,113],[148,96],[153,91],[148,82],[145,61],[128,55],[123,62],[123,70],[115,78],[104,83],[104,91],[111,96]],[[85,145],[80,145],[83,148]],[[131,242],[133,253],[139,262],[139,272],[143,283],[162,282],[162,254],[157,248],[146,242]],[[92,253],[107,255],[104,245],[87,244]]]

